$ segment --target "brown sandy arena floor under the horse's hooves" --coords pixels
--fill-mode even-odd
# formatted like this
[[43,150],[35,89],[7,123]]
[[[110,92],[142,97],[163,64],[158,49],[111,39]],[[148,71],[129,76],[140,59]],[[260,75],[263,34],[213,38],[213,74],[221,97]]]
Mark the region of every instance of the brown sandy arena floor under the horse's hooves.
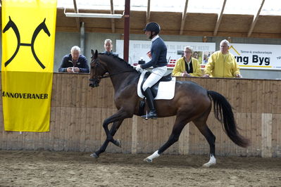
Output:
[[281,158],[0,150],[0,186],[281,186]]

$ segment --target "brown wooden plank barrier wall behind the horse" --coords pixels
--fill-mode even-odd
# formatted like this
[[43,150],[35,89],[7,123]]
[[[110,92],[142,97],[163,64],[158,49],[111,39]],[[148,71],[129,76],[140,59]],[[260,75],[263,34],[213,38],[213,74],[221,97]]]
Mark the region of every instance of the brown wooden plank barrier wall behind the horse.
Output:
[[[4,131],[0,118],[0,149],[92,152],[106,136],[101,124],[116,111],[110,79],[98,88],[88,86],[89,75],[54,73],[50,131],[44,133]],[[216,136],[217,155],[281,157],[281,81],[269,79],[215,79],[177,77],[192,80],[218,91],[230,101],[242,135],[251,139],[249,148],[239,148],[225,135],[213,112],[208,126]],[[2,102],[1,102],[2,103]],[[0,106],[2,112],[2,106]],[[153,153],[168,140],[175,117],[124,120],[115,138],[122,148],[109,144],[111,153]],[[187,124],[180,140],[168,154],[208,154],[208,143],[194,124]]]

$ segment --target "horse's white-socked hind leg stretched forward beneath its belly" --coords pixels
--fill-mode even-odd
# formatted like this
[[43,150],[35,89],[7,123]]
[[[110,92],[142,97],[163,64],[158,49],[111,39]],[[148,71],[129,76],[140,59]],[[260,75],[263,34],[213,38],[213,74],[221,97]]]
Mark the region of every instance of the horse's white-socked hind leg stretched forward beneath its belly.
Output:
[[170,137],[166,143],[164,143],[161,148],[156,150],[152,155],[149,157],[146,157],[144,161],[146,162],[152,162],[152,160],[158,156],[160,156],[161,153],[163,153],[166,149],[168,149],[170,146],[172,146],[176,141],[179,140],[180,133],[182,132],[182,129],[185,127],[185,124],[187,124],[188,120],[185,115],[185,117],[177,116],[177,119],[175,120],[175,124],[173,127],[172,134],[170,134]]

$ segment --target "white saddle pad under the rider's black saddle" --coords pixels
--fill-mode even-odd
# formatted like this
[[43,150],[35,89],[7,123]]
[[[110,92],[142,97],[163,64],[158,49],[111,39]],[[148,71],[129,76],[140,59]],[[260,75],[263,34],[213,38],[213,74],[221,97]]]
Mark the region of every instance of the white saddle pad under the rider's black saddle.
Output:
[[[142,72],[142,75],[139,77],[139,82],[137,84],[137,95],[140,98],[144,98],[140,86],[144,79],[144,74],[147,70]],[[160,82],[158,86],[157,96],[154,99],[172,99],[175,96],[175,77],[172,77],[172,80],[169,82]]]

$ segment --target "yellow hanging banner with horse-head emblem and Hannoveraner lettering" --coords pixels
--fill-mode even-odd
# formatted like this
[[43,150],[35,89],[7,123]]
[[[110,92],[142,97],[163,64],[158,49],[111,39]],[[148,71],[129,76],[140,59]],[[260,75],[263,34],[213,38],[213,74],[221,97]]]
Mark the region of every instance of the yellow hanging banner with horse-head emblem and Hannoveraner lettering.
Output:
[[6,131],[49,131],[56,0],[2,1]]

